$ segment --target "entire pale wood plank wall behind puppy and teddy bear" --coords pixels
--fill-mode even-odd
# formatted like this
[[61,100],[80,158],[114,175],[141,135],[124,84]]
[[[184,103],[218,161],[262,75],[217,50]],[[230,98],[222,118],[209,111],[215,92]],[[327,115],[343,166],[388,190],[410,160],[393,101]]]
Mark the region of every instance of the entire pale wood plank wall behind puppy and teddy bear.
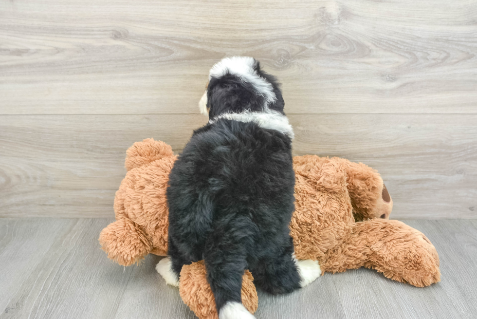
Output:
[[477,216],[477,0],[1,0],[0,216],[111,217],[125,150],[179,152],[231,55],[283,83],[295,154],[378,169],[393,218]]

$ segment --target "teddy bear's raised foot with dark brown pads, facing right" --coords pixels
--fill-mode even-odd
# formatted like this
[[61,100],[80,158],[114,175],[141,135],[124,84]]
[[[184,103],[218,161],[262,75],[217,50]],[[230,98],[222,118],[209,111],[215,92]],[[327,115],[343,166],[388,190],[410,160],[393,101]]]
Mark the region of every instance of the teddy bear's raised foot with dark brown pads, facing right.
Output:
[[393,202],[381,175],[363,163],[341,160],[347,173],[347,188],[355,220],[389,219]]

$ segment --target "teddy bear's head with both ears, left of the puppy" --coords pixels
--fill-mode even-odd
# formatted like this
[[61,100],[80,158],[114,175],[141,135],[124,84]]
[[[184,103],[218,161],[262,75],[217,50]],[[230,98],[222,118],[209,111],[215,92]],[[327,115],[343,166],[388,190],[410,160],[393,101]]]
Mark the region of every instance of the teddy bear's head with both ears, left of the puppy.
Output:
[[103,229],[99,238],[110,259],[128,266],[149,253],[167,254],[165,192],[176,158],[169,145],[153,139],[128,149],[128,172],[114,198],[116,222]]

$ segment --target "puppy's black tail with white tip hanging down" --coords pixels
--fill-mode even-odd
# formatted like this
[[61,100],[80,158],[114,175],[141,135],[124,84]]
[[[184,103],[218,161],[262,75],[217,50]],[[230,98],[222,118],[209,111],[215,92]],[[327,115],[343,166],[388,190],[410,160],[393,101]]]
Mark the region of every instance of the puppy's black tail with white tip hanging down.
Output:
[[219,319],[255,319],[243,306],[242,276],[254,225],[247,218],[217,223],[207,240],[204,260]]

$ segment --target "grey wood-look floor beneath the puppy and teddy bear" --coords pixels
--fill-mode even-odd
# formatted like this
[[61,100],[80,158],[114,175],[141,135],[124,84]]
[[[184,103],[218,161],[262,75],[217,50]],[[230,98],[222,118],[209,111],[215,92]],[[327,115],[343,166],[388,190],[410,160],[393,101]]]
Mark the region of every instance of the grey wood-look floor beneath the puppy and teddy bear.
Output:
[[[0,319],[195,318],[177,288],[99,248],[108,219],[0,219]],[[442,281],[427,288],[360,269],[325,274],[285,296],[259,292],[264,318],[476,318],[477,220],[408,220],[440,254]]]

